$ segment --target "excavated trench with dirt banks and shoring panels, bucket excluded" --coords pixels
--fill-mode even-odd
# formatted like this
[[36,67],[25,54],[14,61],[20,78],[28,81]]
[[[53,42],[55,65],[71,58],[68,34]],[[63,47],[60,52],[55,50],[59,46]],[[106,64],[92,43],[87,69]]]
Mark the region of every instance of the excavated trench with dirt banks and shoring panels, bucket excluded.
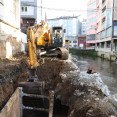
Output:
[[117,96],[109,94],[97,73],[81,72],[72,57],[42,56],[38,62],[38,77],[45,88],[41,95],[28,95],[18,88],[29,77],[28,57],[19,53],[0,60],[0,117],[117,116]]

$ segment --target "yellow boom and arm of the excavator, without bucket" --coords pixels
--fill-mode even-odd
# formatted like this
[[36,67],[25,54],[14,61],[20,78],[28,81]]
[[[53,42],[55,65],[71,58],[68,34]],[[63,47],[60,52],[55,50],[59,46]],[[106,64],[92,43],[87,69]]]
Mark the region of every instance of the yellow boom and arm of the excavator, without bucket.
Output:
[[27,44],[30,60],[30,77],[29,80],[37,78],[37,47],[45,47],[46,43],[51,46],[50,31],[47,24],[35,25],[34,27],[28,27],[27,29]]

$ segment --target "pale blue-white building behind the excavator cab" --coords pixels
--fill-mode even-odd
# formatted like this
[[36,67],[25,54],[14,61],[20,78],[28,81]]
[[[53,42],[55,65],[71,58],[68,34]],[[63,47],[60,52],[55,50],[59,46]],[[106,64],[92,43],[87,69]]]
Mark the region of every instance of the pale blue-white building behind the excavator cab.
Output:
[[64,34],[66,40],[70,40],[70,47],[78,47],[78,35],[81,33],[81,22],[77,16],[60,17],[48,20],[49,26],[62,26],[66,29]]

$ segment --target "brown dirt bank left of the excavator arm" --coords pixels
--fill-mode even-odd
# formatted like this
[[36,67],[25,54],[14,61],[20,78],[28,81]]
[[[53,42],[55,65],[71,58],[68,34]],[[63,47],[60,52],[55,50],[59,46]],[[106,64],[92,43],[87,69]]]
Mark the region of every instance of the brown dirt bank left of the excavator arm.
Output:
[[19,81],[26,81],[28,77],[28,61],[23,53],[14,58],[0,59],[0,110],[6,104]]

